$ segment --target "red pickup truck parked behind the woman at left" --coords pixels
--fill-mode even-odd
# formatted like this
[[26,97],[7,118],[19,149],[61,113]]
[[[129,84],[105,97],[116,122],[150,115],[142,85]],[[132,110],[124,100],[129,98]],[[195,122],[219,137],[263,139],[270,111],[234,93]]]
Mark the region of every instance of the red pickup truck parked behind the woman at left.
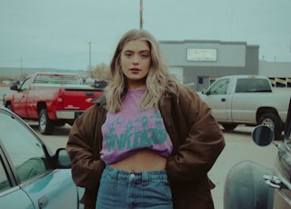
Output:
[[53,134],[55,126],[72,125],[92,105],[90,100],[103,94],[103,89],[83,85],[80,75],[53,72],[28,75],[10,90],[5,107],[21,118],[38,121],[41,134]]

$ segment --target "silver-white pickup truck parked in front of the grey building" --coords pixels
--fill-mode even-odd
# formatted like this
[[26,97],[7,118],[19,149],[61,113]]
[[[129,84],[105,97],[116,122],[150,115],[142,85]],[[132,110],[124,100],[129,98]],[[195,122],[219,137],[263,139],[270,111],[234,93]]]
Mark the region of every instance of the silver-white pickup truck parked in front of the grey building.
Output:
[[276,139],[281,139],[291,91],[275,93],[267,77],[224,76],[197,94],[212,108],[216,121],[225,130],[234,130],[237,124],[267,124]]

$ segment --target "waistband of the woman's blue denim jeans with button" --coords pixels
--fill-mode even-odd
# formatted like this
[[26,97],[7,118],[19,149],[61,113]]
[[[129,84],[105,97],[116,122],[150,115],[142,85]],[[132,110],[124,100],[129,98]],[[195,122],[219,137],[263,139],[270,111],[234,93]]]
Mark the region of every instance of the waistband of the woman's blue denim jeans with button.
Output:
[[143,172],[127,172],[123,170],[118,170],[110,165],[105,166],[104,174],[110,176],[114,179],[125,179],[135,178],[135,180],[149,181],[149,180],[167,180],[166,170],[157,171],[143,171]]

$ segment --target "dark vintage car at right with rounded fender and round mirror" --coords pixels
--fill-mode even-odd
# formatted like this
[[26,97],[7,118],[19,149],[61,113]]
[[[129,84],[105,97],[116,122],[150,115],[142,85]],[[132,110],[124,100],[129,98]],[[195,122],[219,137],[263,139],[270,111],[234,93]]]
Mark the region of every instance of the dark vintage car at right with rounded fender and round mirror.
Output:
[[287,209],[291,208],[291,99],[286,116],[282,144],[273,142],[273,129],[266,125],[255,128],[254,142],[278,148],[274,167],[267,168],[255,162],[236,164],[226,176],[225,209]]

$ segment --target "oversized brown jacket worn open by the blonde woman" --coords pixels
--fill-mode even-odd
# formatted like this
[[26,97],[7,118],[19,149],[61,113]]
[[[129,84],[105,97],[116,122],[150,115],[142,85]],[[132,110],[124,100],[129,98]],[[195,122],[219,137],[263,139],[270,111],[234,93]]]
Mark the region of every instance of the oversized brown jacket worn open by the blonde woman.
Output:
[[[166,172],[174,208],[214,208],[210,189],[215,185],[207,173],[225,147],[225,139],[211,109],[186,87],[179,88],[178,96],[166,95],[159,109],[173,142]],[[85,208],[95,208],[99,180],[105,168],[99,154],[105,115],[105,102],[87,109],[75,120],[66,146],[75,184],[85,187],[81,200]]]

